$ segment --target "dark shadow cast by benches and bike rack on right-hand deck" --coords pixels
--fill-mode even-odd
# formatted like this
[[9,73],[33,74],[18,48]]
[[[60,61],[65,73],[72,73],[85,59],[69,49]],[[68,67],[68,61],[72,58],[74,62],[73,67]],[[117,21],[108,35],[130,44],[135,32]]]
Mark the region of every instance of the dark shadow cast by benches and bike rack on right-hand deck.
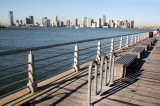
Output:
[[[133,67],[130,67],[130,68],[127,69],[128,73],[127,73],[127,77],[126,77],[125,81],[123,79],[116,80],[115,81],[115,86],[113,88],[103,92],[101,94],[101,96],[103,96],[103,97],[101,99],[97,100],[97,101],[94,101],[93,105],[107,98],[109,100],[120,102],[120,103],[123,103],[123,104],[126,104],[126,105],[140,106],[140,105],[132,104],[132,103],[125,102],[125,101],[111,99],[111,98],[108,98],[108,97],[117,93],[117,92],[119,92],[120,90],[132,85],[133,83],[135,83],[139,80],[138,77],[140,77],[142,72],[145,71],[145,70],[141,69],[143,64],[146,61],[144,59],[146,59],[149,56],[149,54],[151,53],[150,51],[152,51],[152,49],[156,45],[156,43],[157,43],[157,41],[148,49],[148,51],[141,57],[140,60],[137,61],[137,63]],[[132,90],[131,92],[135,92],[135,91]]]

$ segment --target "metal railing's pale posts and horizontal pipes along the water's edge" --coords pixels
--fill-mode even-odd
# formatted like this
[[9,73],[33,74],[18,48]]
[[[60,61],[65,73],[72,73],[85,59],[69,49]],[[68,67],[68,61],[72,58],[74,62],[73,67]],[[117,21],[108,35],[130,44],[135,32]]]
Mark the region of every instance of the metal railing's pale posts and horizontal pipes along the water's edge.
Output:
[[[33,47],[33,48],[25,48],[25,49],[19,49],[19,50],[11,50],[11,51],[0,52],[0,56],[5,56],[5,55],[11,55],[11,54],[17,54],[17,53],[23,53],[23,52],[30,51],[30,54],[29,54],[30,57],[28,57],[29,61],[27,63],[22,63],[22,64],[7,67],[7,68],[4,68],[4,69],[0,69],[0,71],[4,71],[4,70],[9,70],[9,69],[12,69],[12,68],[16,68],[16,67],[25,66],[25,65],[28,64],[28,71],[22,71],[22,72],[12,74],[12,75],[9,75],[9,76],[4,76],[4,77],[0,78],[0,80],[11,78],[13,76],[21,75],[25,72],[28,72],[29,76],[28,76],[27,79],[25,79],[25,80],[28,80],[27,86],[29,87],[31,92],[35,92],[36,88],[37,88],[36,83],[41,81],[41,80],[36,81],[35,76],[39,76],[39,75],[42,75],[42,74],[45,74],[45,73],[49,73],[51,71],[58,70],[58,69],[63,68],[63,67],[67,67],[66,69],[74,69],[76,72],[78,72],[79,65],[80,65],[79,62],[82,63],[82,61],[83,61],[82,64],[84,64],[85,62],[91,61],[93,59],[98,59],[99,61],[101,61],[102,53],[105,53],[105,54],[110,53],[111,51],[114,51],[115,49],[123,48],[126,45],[136,43],[138,41],[137,40],[138,39],[138,36],[137,36],[138,34],[139,33],[125,34],[125,35],[119,35],[119,36],[113,36],[113,37],[96,38],[96,39],[81,40],[81,41],[74,41],[74,42],[68,42],[68,43],[61,43],[61,44],[46,45],[46,46],[40,46],[40,47]],[[144,34],[141,34],[141,36],[142,35],[144,35]],[[114,38],[115,38],[115,40],[113,40]],[[121,40],[119,38],[123,38],[123,39]],[[144,38],[145,37],[142,37],[141,39],[144,39]],[[79,43],[92,42],[92,41],[101,42],[101,40],[105,40],[105,39],[107,39],[107,40],[112,39],[112,40],[111,40],[111,42],[107,41],[107,43],[100,44],[100,45],[97,45],[97,46],[90,46],[90,47],[86,47],[86,48],[82,48],[82,49],[79,49],[79,47],[78,47]],[[119,40],[117,40],[117,39],[119,39]],[[67,45],[73,45],[73,44],[76,44],[76,45],[75,45],[75,50],[72,51],[72,52],[66,52],[66,53],[62,53],[62,54],[58,54],[58,55],[50,56],[50,57],[45,57],[45,58],[41,58],[41,59],[37,59],[37,60],[34,60],[33,54],[31,52],[31,51],[41,50],[41,49],[67,46]],[[111,45],[108,45],[108,44],[111,44]],[[119,47],[118,47],[118,45],[119,45]],[[109,48],[110,46],[111,46],[111,48]],[[88,49],[92,49],[92,48],[96,48],[96,47],[97,47],[97,50],[88,51]],[[102,50],[104,48],[106,48],[106,49]],[[85,50],[87,52],[79,54],[80,51],[85,51]],[[97,51],[97,53],[96,53],[96,51]],[[74,56],[70,57],[70,55],[73,55],[73,54],[74,54]],[[88,55],[88,54],[92,54],[92,55]],[[69,58],[64,58],[64,56],[67,56],[67,55],[69,55]],[[83,58],[81,58],[81,56],[83,56]],[[36,68],[34,67],[34,63],[42,62],[42,61],[45,61],[45,60],[48,60],[48,59],[59,58],[59,57],[62,57],[63,59],[54,61],[54,62],[49,63],[49,64],[45,64],[45,65],[42,65],[42,66],[38,66]],[[92,59],[91,59],[91,57],[92,57]],[[37,71],[37,69],[44,68],[44,67],[47,67],[47,66],[50,66],[50,65],[59,64],[59,63],[62,63],[64,61],[67,61],[69,59],[74,59],[74,62],[73,61],[68,62],[67,64],[63,64],[63,65],[59,65],[59,66],[56,65],[57,67],[56,68],[54,67],[54,69],[43,71],[43,72],[40,72],[40,73],[38,72],[39,74],[35,75],[35,71]],[[73,64],[73,67],[68,67],[68,65],[70,65],[70,64]],[[112,68],[110,70],[112,70]],[[20,80],[20,81],[23,82],[23,80]],[[20,83],[20,82],[15,82],[15,83],[6,85],[6,87],[15,85],[17,83]]]

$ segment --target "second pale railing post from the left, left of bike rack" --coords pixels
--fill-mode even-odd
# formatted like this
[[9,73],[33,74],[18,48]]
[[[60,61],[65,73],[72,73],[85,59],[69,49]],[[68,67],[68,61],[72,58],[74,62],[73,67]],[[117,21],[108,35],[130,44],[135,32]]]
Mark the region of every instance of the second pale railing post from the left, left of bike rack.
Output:
[[75,71],[75,72],[78,72],[78,70],[79,70],[79,56],[78,56],[78,49],[79,49],[79,47],[78,47],[78,44],[76,44],[75,45],[75,49],[74,49],[74,63],[73,63],[73,70]]

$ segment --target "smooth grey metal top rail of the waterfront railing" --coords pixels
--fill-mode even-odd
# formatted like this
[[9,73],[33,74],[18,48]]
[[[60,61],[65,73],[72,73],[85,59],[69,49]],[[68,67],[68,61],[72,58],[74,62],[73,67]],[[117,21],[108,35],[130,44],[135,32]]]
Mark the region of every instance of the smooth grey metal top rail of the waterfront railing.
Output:
[[[139,33],[146,33],[146,32],[139,32]],[[40,49],[53,48],[53,47],[71,45],[71,44],[76,44],[76,43],[83,43],[83,42],[97,41],[97,40],[103,40],[103,39],[117,38],[117,37],[122,37],[122,36],[127,36],[127,35],[132,35],[132,34],[139,34],[139,33],[116,35],[116,36],[112,36],[112,37],[95,38],[95,39],[67,42],[67,43],[60,43],[60,44],[54,44],[54,45],[46,45],[46,46],[40,46],[40,47],[25,48],[25,49],[9,50],[9,51],[0,52],[0,56],[16,54],[16,53],[23,53],[23,52],[27,52],[27,51],[36,51],[36,50],[40,50]]]

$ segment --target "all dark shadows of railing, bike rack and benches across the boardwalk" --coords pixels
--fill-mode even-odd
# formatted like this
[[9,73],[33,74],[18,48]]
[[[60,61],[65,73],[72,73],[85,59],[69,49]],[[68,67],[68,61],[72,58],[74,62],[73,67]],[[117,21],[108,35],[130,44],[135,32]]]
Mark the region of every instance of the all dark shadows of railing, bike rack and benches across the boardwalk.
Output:
[[[153,45],[154,46],[154,45]],[[108,98],[109,96],[121,91],[122,89],[134,84],[135,82],[137,82],[139,80],[139,76],[142,74],[142,72],[144,71],[143,69],[141,69],[142,65],[145,62],[145,59],[149,56],[150,51],[153,49],[153,47],[150,47],[148,49],[148,52],[146,52],[142,58],[140,60],[137,61],[137,64],[133,65],[132,67],[127,69],[127,77],[125,80],[123,79],[118,79],[115,80],[115,84],[114,86],[112,86],[109,90],[106,90],[104,92],[101,93],[100,95],[100,99],[95,100],[92,102],[92,104],[96,104],[101,102],[102,100]],[[76,81],[78,81],[79,79],[83,78],[83,77],[87,77],[88,76],[88,70],[85,70],[82,74],[73,77],[71,79],[66,79],[61,81],[60,83],[54,83],[53,84],[48,84],[46,86],[43,86],[41,88],[39,88],[40,90],[44,90],[47,89],[50,86],[56,85],[54,88],[50,89],[49,91],[46,91],[45,93],[47,93],[46,96],[43,96],[40,99],[33,99],[25,104],[25,105],[36,105],[42,102],[45,102],[47,100],[53,100],[55,97],[59,96],[59,99],[57,99],[56,101],[54,101],[52,104],[50,105],[58,105],[59,103],[63,102],[65,99],[67,99],[70,95],[72,95],[75,92],[79,92],[79,93],[83,93],[81,92],[81,88],[84,86],[87,86],[88,81],[84,80],[83,83],[80,83],[77,87],[74,87],[73,89],[68,89],[66,88],[67,86],[71,86],[72,83],[76,83]],[[81,79],[82,80],[82,79]],[[54,90],[55,89],[55,90]],[[68,92],[59,92],[60,90],[65,89]],[[135,92],[134,90],[132,90],[131,92]],[[43,94],[45,94],[43,93]],[[43,95],[41,94],[41,95]],[[87,94],[87,89],[86,89],[86,94]],[[139,106],[137,104],[133,104],[133,103],[129,103],[129,102],[125,102],[125,101],[120,101],[120,100],[115,100],[115,99],[111,99],[108,98],[109,100],[112,101],[116,101],[119,103],[123,103],[126,105],[136,105]],[[86,100],[87,101],[87,100]]]

